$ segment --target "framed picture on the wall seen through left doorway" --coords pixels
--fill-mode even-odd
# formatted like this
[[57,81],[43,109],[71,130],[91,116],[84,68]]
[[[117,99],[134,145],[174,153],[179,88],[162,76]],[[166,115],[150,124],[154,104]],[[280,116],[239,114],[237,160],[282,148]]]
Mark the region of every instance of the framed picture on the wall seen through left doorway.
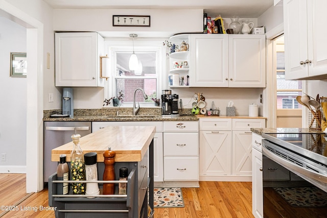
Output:
[[27,59],[26,53],[11,52],[10,53],[10,76],[26,77],[27,75]]

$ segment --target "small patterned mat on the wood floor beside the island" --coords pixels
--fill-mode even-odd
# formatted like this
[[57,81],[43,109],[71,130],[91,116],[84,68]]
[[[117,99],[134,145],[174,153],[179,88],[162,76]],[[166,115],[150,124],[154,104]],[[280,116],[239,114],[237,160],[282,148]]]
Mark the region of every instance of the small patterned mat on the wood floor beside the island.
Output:
[[181,188],[154,188],[153,205],[159,207],[184,207]]

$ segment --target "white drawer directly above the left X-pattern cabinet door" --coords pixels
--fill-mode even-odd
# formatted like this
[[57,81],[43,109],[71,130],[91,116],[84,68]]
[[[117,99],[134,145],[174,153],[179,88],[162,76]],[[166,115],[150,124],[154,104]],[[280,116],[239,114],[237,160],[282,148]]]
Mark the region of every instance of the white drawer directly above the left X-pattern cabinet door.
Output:
[[200,130],[231,130],[231,119],[205,118],[199,119]]

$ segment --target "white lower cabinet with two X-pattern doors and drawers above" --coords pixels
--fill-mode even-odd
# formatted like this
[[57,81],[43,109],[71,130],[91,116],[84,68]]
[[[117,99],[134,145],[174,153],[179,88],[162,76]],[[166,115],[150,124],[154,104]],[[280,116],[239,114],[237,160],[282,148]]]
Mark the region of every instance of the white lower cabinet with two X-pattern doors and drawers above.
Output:
[[252,134],[265,127],[258,118],[199,119],[200,181],[251,181]]

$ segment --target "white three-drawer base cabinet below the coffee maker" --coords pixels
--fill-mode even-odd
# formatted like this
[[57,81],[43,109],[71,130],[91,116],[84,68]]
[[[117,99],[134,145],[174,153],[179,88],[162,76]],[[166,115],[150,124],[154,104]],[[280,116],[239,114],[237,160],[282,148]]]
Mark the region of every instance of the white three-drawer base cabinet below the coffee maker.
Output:
[[164,181],[198,180],[198,122],[164,121]]

